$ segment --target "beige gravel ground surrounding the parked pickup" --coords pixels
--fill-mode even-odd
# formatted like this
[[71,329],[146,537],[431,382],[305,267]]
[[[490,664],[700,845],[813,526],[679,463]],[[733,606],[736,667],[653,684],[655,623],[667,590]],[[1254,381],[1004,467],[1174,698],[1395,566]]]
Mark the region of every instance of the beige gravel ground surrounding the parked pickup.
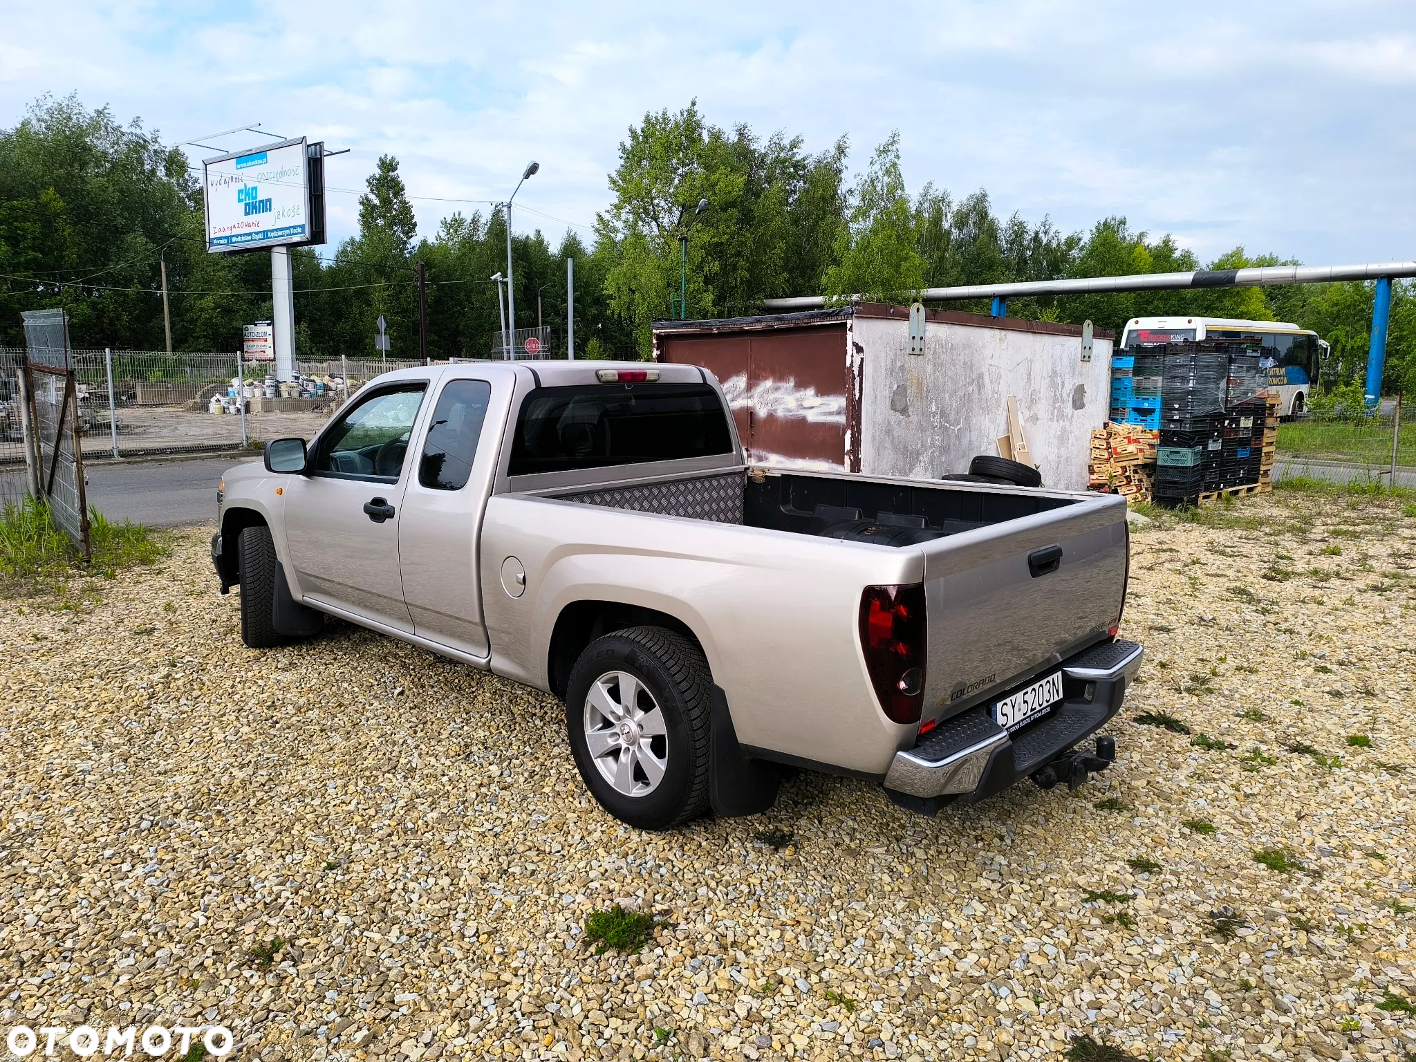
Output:
[[[0,602],[0,1029],[208,1021],[302,1062],[1022,1059],[1078,1032],[1409,1059],[1416,518],[1232,511],[1133,537],[1148,656],[1112,770],[933,820],[801,775],[767,816],[630,831],[548,697],[353,627],[244,649],[200,531],[76,612]],[[583,943],[616,901],[660,919],[640,954]]]

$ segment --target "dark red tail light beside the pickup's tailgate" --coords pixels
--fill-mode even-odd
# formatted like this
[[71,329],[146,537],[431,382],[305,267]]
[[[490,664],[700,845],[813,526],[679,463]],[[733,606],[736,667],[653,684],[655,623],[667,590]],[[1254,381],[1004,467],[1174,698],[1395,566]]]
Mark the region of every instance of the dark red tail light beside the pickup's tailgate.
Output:
[[919,722],[925,707],[925,585],[867,586],[861,650],[881,708],[893,722]]

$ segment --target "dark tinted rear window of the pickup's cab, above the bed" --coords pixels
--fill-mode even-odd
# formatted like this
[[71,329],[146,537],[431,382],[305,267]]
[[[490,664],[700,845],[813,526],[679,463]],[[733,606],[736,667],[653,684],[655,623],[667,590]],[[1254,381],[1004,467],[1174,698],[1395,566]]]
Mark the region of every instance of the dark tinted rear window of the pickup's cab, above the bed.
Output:
[[732,453],[707,384],[537,388],[521,404],[508,476]]

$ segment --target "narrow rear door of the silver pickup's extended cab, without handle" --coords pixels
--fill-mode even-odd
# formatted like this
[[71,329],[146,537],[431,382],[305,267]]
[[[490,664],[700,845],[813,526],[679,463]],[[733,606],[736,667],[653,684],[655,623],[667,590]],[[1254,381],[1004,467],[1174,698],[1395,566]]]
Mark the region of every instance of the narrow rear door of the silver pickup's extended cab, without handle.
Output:
[[452,372],[459,375],[445,378],[438,391],[418,460],[409,466],[398,558],[413,630],[486,657],[477,544],[514,378]]

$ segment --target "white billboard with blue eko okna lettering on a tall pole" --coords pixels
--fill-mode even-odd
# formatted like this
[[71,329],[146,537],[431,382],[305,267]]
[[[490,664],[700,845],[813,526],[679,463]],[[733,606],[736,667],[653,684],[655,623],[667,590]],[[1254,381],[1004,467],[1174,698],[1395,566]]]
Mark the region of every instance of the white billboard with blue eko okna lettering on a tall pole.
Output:
[[[323,156],[323,144],[316,147]],[[323,244],[323,202],[312,202],[312,169],[303,136],[204,160],[207,251]]]

